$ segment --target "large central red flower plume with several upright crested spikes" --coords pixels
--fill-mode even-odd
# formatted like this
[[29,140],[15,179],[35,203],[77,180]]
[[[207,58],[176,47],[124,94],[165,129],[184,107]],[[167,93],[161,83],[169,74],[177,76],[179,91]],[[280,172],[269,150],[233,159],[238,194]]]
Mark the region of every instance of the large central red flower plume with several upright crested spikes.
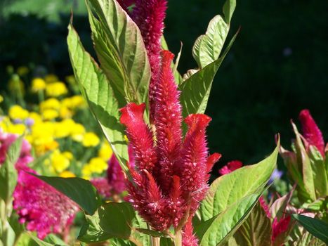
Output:
[[165,231],[181,227],[192,217],[208,189],[209,171],[221,156],[209,156],[205,129],[211,118],[189,115],[188,131],[182,137],[179,91],[173,79],[173,54],[162,51],[154,100],[155,130],[143,115],[145,104],[129,103],[122,108],[121,122],[126,127],[135,157],[130,167],[129,201],[152,228]]

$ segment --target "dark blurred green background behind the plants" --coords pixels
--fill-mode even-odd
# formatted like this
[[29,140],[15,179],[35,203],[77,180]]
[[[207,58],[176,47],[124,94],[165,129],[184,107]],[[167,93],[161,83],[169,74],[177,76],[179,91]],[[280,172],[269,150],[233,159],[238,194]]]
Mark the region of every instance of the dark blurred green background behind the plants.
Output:
[[[169,0],[165,37],[176,54],[183,42],[181,73],[196,67],[192,45],[222,13],[223,2]],[[60,79],[72,75],[66,46],[71,9],[93,53],[84,0],[0,1],[0,91],[10,79],[8,66],[44,67]],[[218,70],[206,111],[213,118],[209,147],[223,154],[216,169],[230,160],[258,162],[273,150],[277,133],[289,148],[289,120],[297,122],[303,108],[327,141],[327,13],[327,0],[237,1],[230,37],[238,27],[241,32]]]

